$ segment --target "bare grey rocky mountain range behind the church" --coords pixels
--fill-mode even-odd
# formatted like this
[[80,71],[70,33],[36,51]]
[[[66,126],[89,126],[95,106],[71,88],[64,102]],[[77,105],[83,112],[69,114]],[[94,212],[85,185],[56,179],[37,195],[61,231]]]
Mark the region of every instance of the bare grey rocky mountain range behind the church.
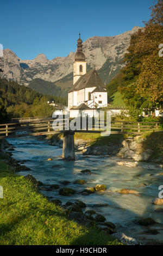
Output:
[[[108,83],[122,68],[121,60],[126,53],[130,42],[130,36],[140,27],[134,27],[131,31],[115,36],[93,36],[83,42],[83,52],[86,56],[87,70],[94,66],[98,70],[103,82]],[[74,42],[75,43],[75,42]],[[56,57],[52,60],[41,53],[32,60],[22,60],[9,49],[3,51],[0,66],[4,70],[2,77],[17,81],[28,86],[36,78],[48,82],[56,82],[62,87],[67,79],[72,80],[74,52],[67,57]],[[66,90],[66,88],[64,88]]]

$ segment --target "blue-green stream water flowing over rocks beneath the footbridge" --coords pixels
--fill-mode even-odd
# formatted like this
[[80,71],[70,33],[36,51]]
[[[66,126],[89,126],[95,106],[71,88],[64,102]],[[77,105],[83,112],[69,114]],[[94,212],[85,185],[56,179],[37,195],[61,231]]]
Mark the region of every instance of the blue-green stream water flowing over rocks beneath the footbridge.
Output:
[[[76,191],[83,191],[85,187],[105,184],[105,192],[96,192],[89,196],[74,194],[71,197],[59,195],[59,190],[42,191],[52,199],[60,199],[65,204],[70,199],[82,200],[86,209],[95,209],[99,214],[105,216],[107,221],[116,224],[117,231],[133,236],[140,241],[161,241],[163,232],[163,206],[153,205],[152,199],[158,197],[158,187],[163,185],[163,175],[159,164],[143,163],[143,167],[118,166],[116,156],[83,156],[76,153],[75,161],[64,161],[61,159],[62,149],[47,144],[34,137],[8,139],[15,146],[12,151],[16,160],[27,160],[24,163],[31,170],[19,172],[20,175],[32,174],[37,180],[45,185],[58,184],[61,187],[71,187]],[[51,157],[53,161],[47,161]],[[149,168],[150,167],[150,168]],[[90,169],[92,175],[84,175],[80,171]],[[86,184],[77,185],[73,182],[77,179],[86,180]],[[68,180],[71,183],[62,185],[60,182]],[[146,184],[147,186],[142,186]],[[134,194],[120,194],[115,191],[127,188],[136,190],[140,196]],[[95,204],[109,204],[108,206],[95,207]],[[158,211],[157,209],[160,209]],[[157,229],[159,234],[144,234],[148,227],[140,227],[134,223],[140,217],[152,217],[159,224],[151,229]],[[145,242],[144,242],[145,243]]]

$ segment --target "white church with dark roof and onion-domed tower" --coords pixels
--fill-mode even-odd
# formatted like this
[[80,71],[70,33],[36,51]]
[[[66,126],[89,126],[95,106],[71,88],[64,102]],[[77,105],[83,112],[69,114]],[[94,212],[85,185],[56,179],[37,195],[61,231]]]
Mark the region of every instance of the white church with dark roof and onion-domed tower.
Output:
[[71,113],[75,113],[75,110],[95,113],[95,109],[106,107],[108,104],[106,86],[95,69],[86,72],[80,33],[77,43],[78,48],[73,62],[73,86],[68,92],[68,109]]

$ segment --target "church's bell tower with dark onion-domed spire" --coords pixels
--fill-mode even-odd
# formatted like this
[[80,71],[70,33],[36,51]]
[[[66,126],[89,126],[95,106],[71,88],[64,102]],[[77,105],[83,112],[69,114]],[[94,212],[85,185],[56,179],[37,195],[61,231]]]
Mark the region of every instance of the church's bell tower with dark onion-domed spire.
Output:
[[74,62],[73,62],[73,84],[76,83],[80,76],[83,76],[86,74],[86,61],[85,61],[85,54],[83,53],[83,41],[80,38],[79,33],[79,39],[77,41],[77,52],[74,56]]

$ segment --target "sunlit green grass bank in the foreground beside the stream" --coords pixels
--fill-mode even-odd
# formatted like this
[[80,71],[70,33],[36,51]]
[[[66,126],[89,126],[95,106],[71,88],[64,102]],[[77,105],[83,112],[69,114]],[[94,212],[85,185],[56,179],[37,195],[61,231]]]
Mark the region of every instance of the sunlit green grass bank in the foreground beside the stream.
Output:
[[[68,220],[23,176],[0,161],[0,245],[118,245],[98,229]],[[67,198],[68,200],[68,198]]]

